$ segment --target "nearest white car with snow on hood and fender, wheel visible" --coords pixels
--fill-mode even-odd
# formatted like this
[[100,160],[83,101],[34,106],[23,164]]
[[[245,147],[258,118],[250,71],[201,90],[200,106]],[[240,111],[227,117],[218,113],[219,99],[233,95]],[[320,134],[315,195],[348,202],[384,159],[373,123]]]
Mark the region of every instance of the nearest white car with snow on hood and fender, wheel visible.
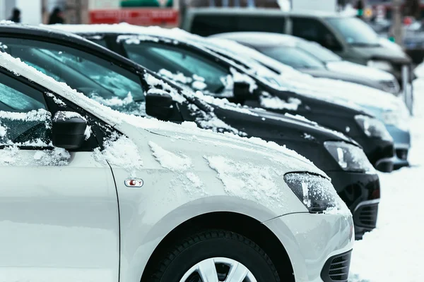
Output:
[[120,114],[0,52],[0,146],[1,281],[347,279],[350,212],[276,144]]

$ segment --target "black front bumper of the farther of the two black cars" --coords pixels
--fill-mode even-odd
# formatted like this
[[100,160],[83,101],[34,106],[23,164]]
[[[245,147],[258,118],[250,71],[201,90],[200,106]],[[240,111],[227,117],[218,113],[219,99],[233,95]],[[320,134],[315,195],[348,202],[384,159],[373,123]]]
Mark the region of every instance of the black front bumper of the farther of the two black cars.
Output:
[[370,163],[382,172],[393,171],[394,145],[391,140],[380,138],[353,137],[358,142],[370,160]]

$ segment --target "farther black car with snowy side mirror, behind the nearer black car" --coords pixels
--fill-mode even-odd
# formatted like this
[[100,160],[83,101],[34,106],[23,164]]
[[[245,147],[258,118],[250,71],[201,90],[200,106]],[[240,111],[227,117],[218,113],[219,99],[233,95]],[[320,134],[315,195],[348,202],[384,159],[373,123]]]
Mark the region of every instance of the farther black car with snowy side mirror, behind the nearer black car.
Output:
[[[384,125],[362,109],[280,90],[273,87],[271,82],[250,75],[245,68],[191,42],[181,39],[177,42],[175,38],[154,35],[153,31],[146,34],[141,31],[138,34],[122,34],[102,32],[101,27],[92,28],[93,32],[87,27],[83,29],[85,32],[78,34],[151,71],[163,73],[167,78],[188,82],[192,90],[202,90],[215,97],[227,98],[232,102],[264,108],[279,114],[298,114],[327,128],[345,133],[363,147],[375,168],[384,172],[393,170],[393,140]],[[107,30],[107,27],[103,28]],[[160,33],[160,30],[157,31]],[[242,82],[245,82],[246,90],[234,91],[233,95],[232,90],[225,85],[229,75],[230,80],[244,80]],[[200,88],[201,83],[192,81],[199,76],[203,83]],[[366,128],[367,126],[370,128]]]

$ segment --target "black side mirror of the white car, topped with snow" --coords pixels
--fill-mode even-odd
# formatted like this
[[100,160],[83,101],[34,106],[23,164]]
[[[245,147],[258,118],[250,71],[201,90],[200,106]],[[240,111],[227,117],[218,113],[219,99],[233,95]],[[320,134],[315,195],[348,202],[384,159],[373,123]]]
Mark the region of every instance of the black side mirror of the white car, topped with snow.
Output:
[[54,147],[78,149],[86,140],[87,121],[72,111],[58,111],[52,120]]

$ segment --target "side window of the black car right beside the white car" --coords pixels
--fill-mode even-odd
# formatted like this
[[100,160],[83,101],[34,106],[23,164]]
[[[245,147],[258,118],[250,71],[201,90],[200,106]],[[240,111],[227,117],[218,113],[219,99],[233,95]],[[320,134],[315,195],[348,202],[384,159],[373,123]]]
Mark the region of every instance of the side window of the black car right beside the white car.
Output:
[[128,114],[144,115],[138,75],[85,51],[30,39],[2,38],[7,51],[57,81]]

